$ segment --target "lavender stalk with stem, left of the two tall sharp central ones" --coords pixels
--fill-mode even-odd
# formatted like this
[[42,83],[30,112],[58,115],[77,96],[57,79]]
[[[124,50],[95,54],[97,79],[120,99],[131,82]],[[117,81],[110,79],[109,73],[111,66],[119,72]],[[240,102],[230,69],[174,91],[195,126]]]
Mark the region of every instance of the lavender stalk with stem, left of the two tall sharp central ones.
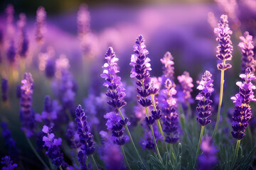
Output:
[[[112,108],[114,108],[115,112],[118,111],[119,115],[122,118],[122,120],[118,120],[117,123],[114,123],[115,125],[114,125],[114,129],[112,128],[113,130],[112,134],[114,135],[114,137],[118,138],[118,140],[115,140],[117,144],[124,145],[125,140],[120,140],[119,138],[122,136],[120,132],[123,133],[122,127],[124,126],[124,128],[127,131],[127,134],[129,135],[129,139],[132,142],[132,146],[134,147],[134,150],[137,156],[139,157],[140,162],[142,162],[142,157],[139,155],[139,152],[134,145],[134,141],[132,140],[132,135],[130,134],[127,126],[129,125],[129,119],[124,118],[124,115],[122,114],[122,111],[121,111],[121,108],[126,105],[126,102],[124,101],[125,93],[124,93],[124,88],[122,86],[121,77],[117,76],[117,73],[119,72],[117,68],[118,58],[114,54],[114,50],[112,47],[109,47],[107,49],[107,52],[105,54],[105,59],[107,60],[107,62],[102,66],[104,71],[103,71],[103,74],[101,74],[100,76],[106,80],[103,85],[109,89],[106,95],[110,98],[110,101],[108,101],[107,103],[110,106],[112,106]],[[125,159],[125,155],[124,155],[124,159]],[[142,162],[142,164],[144,163]]]

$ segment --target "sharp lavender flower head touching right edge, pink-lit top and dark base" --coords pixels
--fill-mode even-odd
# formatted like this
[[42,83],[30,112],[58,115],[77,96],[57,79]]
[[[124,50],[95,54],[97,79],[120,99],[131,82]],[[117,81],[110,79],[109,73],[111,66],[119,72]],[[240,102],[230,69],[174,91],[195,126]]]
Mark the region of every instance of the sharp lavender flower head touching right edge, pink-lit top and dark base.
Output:
[[252,91],[256,89],[256,87],[251,82],[253,79],[256,79],[256,77],[250,67],[245,70],[245,74],[240,74],[240,78],[245,81],[238,81],[236,83],[239,86],[239,93],[231,97],[231,100],[235,103],[232,123],[233,131],[231,135],[233,135],[236,140],[242,140],[242,138],[245,137],[245,130],[252,117],[252,108],[250,108],[249,104],[250,101],[256,101]]

